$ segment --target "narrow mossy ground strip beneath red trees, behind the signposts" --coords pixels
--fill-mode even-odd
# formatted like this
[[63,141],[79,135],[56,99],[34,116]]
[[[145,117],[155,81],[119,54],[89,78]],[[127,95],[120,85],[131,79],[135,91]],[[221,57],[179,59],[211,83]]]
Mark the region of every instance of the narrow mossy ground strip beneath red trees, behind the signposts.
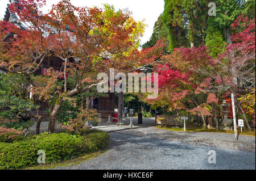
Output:
[[[170,131],[184,131],[182,128],[172,128],[171,126],[167,126],[167,127],[162,127],[160,125],[156,126],[159,129],[167,129]],[[216,130],[215,128],[211,128],[211,129],[206,129],[204,127],[195,127],[195,126],[191,126],[191,125],[186,125],[186,132],[214,132],[214,133],[232,133],[234,134],[234,130],[233,131],[228,131],[228,130]],[[252,131],[247,131],[245,129],[243,129],[243,131],[241,132],[241,129],[237,129],[237,134],[241,134],[241,135],[246,135],[246,136],[255,136],[255,131],[254,129],[252,129]]]

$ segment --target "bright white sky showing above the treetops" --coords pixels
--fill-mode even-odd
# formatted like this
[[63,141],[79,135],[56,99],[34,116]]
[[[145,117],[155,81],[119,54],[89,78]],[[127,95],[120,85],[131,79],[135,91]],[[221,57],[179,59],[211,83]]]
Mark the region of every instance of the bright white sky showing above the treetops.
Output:
[[[59,0],[46,0],[47,5],[43,12],[46,13],[57,2]],[[7,3],[9,3],[9,0],[0,0],[0,19],[5,14]],[[150,39],[154,23],[164,10],[164,0],[71,0],[71,3],[75,6],[88,7],[103,7],[102,4],[108,3],[109,5],[114,5],[116,10],[128,8],[133,12],[133,17],[136,21],[145,19],[144,23],[147,24],[144,36],[141,38],[141,44],[146,43]]]

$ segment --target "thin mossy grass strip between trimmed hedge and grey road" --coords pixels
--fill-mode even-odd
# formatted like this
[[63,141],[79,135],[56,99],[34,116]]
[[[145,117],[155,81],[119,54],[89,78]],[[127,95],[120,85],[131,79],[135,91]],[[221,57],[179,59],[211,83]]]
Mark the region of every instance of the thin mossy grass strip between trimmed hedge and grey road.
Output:
[[90,159],[95,159],[95,157],[98,157],[99,155],[105,153],[106,150],[104,151],[97,151],[95,153],[90,153],[83,155],[81,157],[77,157],[75,159],[69,159],[67,161],[63,162],[58,162],[58,163],[50,163],[50,164],[42,164],[42,165],[36,165],[32,167],[28,167],[26,169],[21,169],[21,170],[44,170],[44,169],[54,169],[56,167],[70,167],[74,165],[78,165],[79,163],[88,161]]

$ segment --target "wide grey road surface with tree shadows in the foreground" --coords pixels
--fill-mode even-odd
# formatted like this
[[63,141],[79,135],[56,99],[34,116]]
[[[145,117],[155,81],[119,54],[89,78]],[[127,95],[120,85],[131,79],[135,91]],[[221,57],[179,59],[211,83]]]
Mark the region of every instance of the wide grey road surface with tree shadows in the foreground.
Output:
[[[191,145],[170,140],[110,134],[110,149],[72,167],[55,169],[255,169],[255,153]],[[216,151],[216,164],[209,164],[209,150]]]

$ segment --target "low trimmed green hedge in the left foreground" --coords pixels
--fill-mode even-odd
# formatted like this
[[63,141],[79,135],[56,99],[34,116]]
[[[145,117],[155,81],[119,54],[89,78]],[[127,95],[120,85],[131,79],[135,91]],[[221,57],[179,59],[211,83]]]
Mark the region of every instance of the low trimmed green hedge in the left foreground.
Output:
[[45,151],[46,163],[54,163],[106,149],[108,145],[109,134],[98,130],[85,136],[43,133],[13,143],[0,142],[0,169],[20,169],[38,164],[38,150]]

